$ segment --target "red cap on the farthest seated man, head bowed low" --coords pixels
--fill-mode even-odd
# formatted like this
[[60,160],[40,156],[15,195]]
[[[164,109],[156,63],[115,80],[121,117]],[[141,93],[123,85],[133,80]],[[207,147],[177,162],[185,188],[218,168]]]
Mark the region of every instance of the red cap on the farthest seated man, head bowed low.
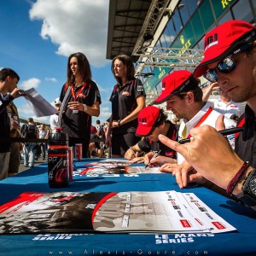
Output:
[[160,108],[148,106],[138,113],[137,136],[148,136],[160,117]]

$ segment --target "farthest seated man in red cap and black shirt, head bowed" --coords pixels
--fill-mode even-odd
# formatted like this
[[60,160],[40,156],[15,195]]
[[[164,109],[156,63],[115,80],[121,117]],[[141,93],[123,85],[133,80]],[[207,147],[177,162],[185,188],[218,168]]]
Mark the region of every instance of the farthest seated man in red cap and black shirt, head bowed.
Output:
[[140,144],[139,147],[150,148],[150,152],[145,154],[143,158],[137,157],[133,159],[132,162],[146,161],[146,163],[148,163],[155,152],[160,152],[160,155],[164,158],[164,162],[176,163],[176,152],[166,147],[165,144],[160,143],[158,138],[160,134],[164,134],[166,137],[170,137],[173,140],[177,139],[176,126],[173,125],[171,121],[167,120],[164,111],[154,106],[148,106],[138,113],[137,119],[136,135],[138,137],[145,137],[142,143],[148,144]]

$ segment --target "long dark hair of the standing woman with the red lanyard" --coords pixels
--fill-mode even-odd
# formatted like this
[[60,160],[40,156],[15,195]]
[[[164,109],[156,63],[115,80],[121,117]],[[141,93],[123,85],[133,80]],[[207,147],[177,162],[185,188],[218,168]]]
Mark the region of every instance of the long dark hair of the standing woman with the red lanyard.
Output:
[[91,80],[91,71],[90,71],[90,63],[87,60],[86,56],[80,52],[73,53],[72,55],[69,55],[68,61],[67,61],[67,85],[71,85],[74,83],[75,78],[73,76],[73,72],[70,68],[70,59],[72,57],[77,57],[78,59],[78,73],[82,77],[83,81],[85,83],[90,83]]

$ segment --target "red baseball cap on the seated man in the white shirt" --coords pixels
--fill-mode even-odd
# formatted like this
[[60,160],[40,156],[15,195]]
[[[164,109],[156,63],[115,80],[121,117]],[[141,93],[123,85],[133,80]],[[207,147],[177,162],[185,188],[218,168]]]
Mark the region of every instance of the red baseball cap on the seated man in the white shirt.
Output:
[[187,70],[177,70],[162,80],[162,92],[154,100],[154,104],[166,102],[172,95],[189,91],[198,86],[199,81]]

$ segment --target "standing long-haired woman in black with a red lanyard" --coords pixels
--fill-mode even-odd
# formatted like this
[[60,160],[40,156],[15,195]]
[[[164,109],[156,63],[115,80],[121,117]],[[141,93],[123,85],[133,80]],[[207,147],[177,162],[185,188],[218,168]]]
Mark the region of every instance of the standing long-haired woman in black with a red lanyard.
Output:
[[96,83],[91,79],[89,61],[82,53],[68,57],[67,82],[62,87],[60,101],[63,109],[61,128],[68,135],[69,146],[82,143],[83,157],[88,157],[91,116],[100,114],[102,100]]

